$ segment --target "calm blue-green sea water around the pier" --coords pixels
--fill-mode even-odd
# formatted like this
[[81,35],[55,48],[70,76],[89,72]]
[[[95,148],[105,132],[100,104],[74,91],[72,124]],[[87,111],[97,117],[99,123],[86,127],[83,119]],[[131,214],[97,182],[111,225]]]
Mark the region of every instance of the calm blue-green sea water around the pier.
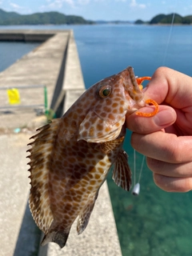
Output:
[[[0,28],[73,29],[86,88],[126,66],[133,66],[138,76],[151,76],[159,66],[168,66],[192,76],[192,26],[119,24]],[[0,71],[36,46],[28,43],[11,44],[0,43],[0,56],[5,59],[0,62]],[[128,131],[124,149],[129,154],[130,167],[134,170],[130,135]],[[136,154],[136,182],[141,165],[142,155]],[[142,169],[138,197],[116,186],[111,174],[107,182],[123,256],[192,255],[191,192],[172,194],[160,190],[154,185],[146,163]]]

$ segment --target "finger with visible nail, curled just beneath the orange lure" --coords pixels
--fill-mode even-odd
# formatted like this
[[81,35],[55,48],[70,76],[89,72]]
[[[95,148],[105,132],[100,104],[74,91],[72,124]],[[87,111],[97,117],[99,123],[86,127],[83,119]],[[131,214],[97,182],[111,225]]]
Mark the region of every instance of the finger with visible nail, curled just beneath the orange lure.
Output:
[[[139,112],[151,112],[150,106],[139,109]],[[175,110],[170,106],[159,106],[158,114],[146,118],[133,113],[126,115],[126,128],[138,134],[150,134],[154,131],[161,130],[171,126],[177,118]]]

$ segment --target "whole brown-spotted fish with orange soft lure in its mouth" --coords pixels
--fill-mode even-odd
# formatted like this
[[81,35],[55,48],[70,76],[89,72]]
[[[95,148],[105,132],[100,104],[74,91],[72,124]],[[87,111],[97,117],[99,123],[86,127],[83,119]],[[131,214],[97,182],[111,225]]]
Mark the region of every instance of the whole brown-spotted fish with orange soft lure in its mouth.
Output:
[[158,104],[144,99],[142,81],[128,66],[86,90],[62,118],[55,118],[28,145],[30,155],[30,211],[44,233],[42,246],[66,245],[70,228],[78,218],[82,234],[98,198],[98,192],[113,166],[114,182],[129,191],[131,171],[122,149],[126,114],[142,106]]

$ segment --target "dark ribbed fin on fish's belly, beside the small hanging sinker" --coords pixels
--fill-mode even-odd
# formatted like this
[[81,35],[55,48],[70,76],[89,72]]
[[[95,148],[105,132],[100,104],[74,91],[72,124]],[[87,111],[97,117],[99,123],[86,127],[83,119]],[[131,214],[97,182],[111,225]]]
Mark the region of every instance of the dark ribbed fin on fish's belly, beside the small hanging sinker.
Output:
[[116,162],[114,162],[113,177],[114,182],[121,186],[123,190],[129,191],[131,186],[131,171],[128,164],[126,151],[121,150]]

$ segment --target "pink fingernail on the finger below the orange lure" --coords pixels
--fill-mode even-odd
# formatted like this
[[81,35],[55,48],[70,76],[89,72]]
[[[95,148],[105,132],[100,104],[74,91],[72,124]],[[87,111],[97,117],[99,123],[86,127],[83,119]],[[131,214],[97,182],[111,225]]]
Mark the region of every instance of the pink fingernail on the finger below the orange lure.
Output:
[[154,116],[154,122],[157,126],[168,126],[174,122],[175,114],[170,110],[162,110]]

